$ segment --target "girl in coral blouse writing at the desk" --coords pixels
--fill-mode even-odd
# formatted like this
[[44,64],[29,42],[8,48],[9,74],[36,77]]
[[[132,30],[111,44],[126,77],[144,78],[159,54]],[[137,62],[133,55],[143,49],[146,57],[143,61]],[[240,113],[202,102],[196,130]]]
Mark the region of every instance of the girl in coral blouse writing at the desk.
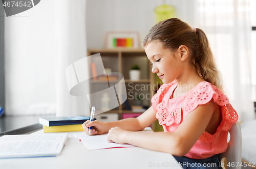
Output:
[[[87,121],[84,131],[88,133],[93,126],[92,134],[108,132],[108,142],[170,153],[178,162],[190,163],[187,166],[215,163],[219,168],[218,154],[226,151],[227,130],[238,116],[222,92],[206,35],[171,18],[153,26],[142,45],[152,72],[164,83],[152,98],[152,106],[137,118]],[[164,132],[134,132],[156,120]]]

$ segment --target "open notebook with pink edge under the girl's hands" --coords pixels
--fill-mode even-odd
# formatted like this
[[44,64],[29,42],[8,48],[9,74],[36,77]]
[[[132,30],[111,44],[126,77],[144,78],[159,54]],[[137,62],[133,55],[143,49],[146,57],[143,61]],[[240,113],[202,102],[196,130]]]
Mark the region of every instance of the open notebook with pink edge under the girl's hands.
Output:
[[[146,127],[143,131],[140,132],[153,132],[150,127]],[[74,133],[74,136],[82,142],[82,145],[86,147],[87,150],[97,150],[97,149],[107,149],[107,148],[116,148],[116,147],[135,147],[129,144],[117,144],[117,143],[108,143],[106,137],[108,134],[102,135],[87,135],[86,133]]]

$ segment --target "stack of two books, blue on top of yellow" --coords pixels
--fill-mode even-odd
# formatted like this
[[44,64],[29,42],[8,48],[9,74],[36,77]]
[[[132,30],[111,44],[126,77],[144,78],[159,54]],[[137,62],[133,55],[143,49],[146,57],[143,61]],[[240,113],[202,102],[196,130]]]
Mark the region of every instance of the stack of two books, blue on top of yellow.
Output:
[[40,117],[39,124],[43,125],[44,132],[83,131],[82,124],[87,120],[90,120],[90,117]]

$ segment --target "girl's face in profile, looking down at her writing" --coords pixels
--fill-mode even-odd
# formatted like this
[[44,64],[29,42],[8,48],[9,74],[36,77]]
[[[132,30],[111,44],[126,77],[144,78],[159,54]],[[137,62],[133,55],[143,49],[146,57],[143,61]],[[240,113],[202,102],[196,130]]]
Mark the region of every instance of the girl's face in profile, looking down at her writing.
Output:
[[163,48],[162,43],[153,41],[145,46],[148,60],[152,63],[152,72],[156,73],[163,83],[170,83],[179,78],[184,70],[179,49],[170,51]]

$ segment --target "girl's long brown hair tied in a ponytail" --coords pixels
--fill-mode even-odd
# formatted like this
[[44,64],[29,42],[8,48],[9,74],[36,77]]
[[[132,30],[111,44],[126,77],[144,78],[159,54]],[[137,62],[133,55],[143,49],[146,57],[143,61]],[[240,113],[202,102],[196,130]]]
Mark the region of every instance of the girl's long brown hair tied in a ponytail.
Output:
[[164,48],[172,51],[180,45],[186,45],[191,51],[190,62],[198,74],[205,80],[223,91],[220,71],[217,68],[214,55],[205,33],[197,31],[178,18],[170,18],[157,23],[145,37],[142,46],[152,41],[160,41]]

